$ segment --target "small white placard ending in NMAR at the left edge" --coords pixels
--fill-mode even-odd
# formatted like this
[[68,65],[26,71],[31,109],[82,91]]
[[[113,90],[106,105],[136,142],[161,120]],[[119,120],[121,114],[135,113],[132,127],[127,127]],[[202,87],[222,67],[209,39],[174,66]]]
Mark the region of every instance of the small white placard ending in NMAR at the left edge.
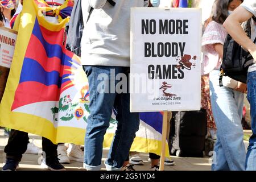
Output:
[[11,68],[16,37],[15,31],[5,27],[0,28],[0,66]]

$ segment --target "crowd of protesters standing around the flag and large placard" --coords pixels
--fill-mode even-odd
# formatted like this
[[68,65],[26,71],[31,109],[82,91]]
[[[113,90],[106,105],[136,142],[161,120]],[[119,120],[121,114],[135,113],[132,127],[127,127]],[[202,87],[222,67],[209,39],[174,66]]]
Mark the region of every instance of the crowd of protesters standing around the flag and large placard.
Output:
[[[50,6],[60,6],[65,0],[46,0],[46,2]],[[23,1],[20,1],[19,6],[22,6],[22,3]],[[143,164],[138,155],[129,160],[130,147],[139,129],[139,113],[131,113],[129,110],[130,94],[98,92],[100,81],[95,78],[101,73],[111,78],[112,69],[115,71],[115,76],[118,73],[124,73],[129,78],[130,28],[127,26],[129,27],[130,24],[130,8],[158,7],[159,3],[160,0],[81,1],[85,25],[81,39],[81,61],[88,77],[90,94],[90,115],[85,145],[83,148],[75,144],[53,144],[51,140],[43,137],[42,149],[45,155],[43,155],[42,166],[44,168],[65,170],[61,163],[69,163],[71,159],[83,162],[84,168],[88,171],[100,170],[104,135],[109,127],[113,107],[117,111],[118,124],[108,159],[104,162],[106,169],[133,171],[133,164]],[[11,28],[11,18],[15,14],[18,3],[16,4],[15,0],[2,0],[0,5],[1,25]],[[57,23],[54,14],[44,14],[44,16],[49,22]],[[219,82],[224,42],[228,34],[247,49],[256,60],[256,46],[253,43],[256,36],[255,22],[251,20],[251,38],[248,38],[241,27],[241,23],[254,16],[256,16],[254,0],[216,0],[212,14],[204,24],[201,107],[207,110],[209,133],[213,139],[217,138],[214,146],[216,161],[212,164],[212,170],[256,170],[256,95],[254,92],[256,64],[249,67],[247,85],[238,82],[236,87],[229,88],[220,86]],[[110,80],[109,83],[113,81]],[[116,85],[117,81],[114,82]],[[244,93],[247,93],[251,106],[253,131],[247,154],[243,144],[241,124]],[[6,163],[2,170],[18,169],[22,155],[31,146],[27,133],[11,130],[5,147]],[[35,151],[38,149],[36,148]],[[159,170],[159,158],[160,156],[150,153],[151,170]],[[175,162],[166,158],[165,164],[174,165]]]

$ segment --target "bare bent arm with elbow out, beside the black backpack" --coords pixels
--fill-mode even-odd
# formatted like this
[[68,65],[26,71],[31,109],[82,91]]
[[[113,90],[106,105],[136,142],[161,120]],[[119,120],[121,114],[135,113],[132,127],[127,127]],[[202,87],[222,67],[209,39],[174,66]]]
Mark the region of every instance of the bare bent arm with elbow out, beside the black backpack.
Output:
[[240,23],[245,22],[252,16],[253,14],[251,14],[250,11],[240,6],[233,14],[228,16],[223,26],[238,44],[250,51],[251,55],[256,60],[256,45],[248,38],[240,25]]

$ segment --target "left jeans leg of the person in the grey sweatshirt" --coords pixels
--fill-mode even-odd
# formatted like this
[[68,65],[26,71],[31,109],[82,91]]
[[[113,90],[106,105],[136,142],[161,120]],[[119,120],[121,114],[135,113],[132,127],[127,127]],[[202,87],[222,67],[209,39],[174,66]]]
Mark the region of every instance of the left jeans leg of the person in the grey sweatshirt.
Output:
[[[98,80],[98,76],[101,73],[105,73],[108,77],[105,80],[105,86],[108,86],[110,82],[110,69],[113,67],[85,67],[85,72],[89,81],[89,94],[90,94],[90,115],[88,117],[87,129],[85,135],[85,155],[84,163],[87,170],[100,170],[103,140],[106,130],[109,127],[109,121],[112,115],[115,93],[100,93],[98,92],[98,85],[101,84],[101,80]],[[126,154],[125,158],[127,157]]]

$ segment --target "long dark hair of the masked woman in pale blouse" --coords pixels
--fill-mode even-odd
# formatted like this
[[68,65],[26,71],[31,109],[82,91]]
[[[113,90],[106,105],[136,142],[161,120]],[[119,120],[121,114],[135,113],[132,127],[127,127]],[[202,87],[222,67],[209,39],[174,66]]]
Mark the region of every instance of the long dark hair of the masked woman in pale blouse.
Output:
[[[216,3],[216,14],[213,14],[212,20],[217,23],[223,24],[226,18],[228,18],[228,6],[229,3],[232,1],[233,0],[216,0],[216,2],[214,2]],[[243,2],[243,0],[240,1]]]

